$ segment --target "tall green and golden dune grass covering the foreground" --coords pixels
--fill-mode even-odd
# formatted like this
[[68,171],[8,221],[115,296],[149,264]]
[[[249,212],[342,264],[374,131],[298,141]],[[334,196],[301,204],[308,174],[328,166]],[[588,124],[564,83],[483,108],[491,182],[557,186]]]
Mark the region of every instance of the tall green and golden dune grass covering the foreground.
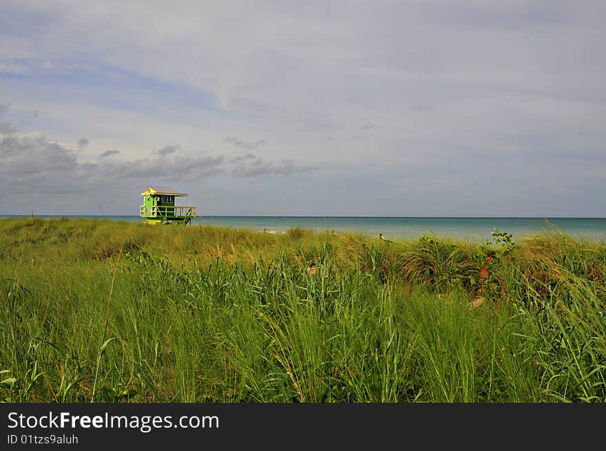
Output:
[[0,397],[605,402],[606,246],[0,220]]

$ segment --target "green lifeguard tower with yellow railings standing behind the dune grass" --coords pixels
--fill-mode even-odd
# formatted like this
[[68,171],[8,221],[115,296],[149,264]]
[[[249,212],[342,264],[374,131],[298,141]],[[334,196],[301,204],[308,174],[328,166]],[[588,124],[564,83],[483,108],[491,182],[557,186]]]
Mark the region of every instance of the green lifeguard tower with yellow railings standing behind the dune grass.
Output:
[[141,193],[143,205],[139,206],[141,218],[147,224],[191,224],[191,218],[198,217],[196,207],[175,205],[175,198],[187,196],[167,187],[147,187]]

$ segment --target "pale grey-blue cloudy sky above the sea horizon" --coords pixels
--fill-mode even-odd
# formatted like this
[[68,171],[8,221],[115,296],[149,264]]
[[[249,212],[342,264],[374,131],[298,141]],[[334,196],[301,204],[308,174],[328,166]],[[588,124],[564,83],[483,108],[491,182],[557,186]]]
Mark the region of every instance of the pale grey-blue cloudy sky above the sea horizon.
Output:
[[606,2],[0,0],[0,214],[606,217]]

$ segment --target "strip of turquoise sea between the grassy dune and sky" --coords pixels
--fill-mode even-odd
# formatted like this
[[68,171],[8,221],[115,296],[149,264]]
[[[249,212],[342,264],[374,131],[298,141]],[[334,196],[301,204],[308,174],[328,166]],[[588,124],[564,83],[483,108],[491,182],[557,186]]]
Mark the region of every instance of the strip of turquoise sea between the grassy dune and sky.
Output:
[[[0,218],[29,216],[0,215]],[[40,216],[45,219],[61,216]],[[143,222],[139,216],[63,216],[124,222]],[[606,218],[428,218],[366,216],[202,216],[191,224],[233,227],[265,233],[285,233],[300,227],[317,233],[382,233],[388,240],[409,240],[421,236],[452,238],[469,242],[492,240],[492,232],[511,233],[512,240],[523,240],[540,233],[567,233],[577,238],[606,243]]]

